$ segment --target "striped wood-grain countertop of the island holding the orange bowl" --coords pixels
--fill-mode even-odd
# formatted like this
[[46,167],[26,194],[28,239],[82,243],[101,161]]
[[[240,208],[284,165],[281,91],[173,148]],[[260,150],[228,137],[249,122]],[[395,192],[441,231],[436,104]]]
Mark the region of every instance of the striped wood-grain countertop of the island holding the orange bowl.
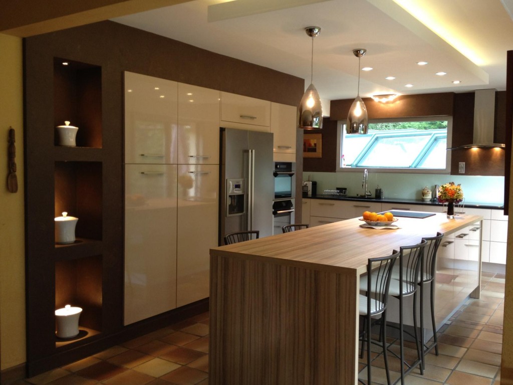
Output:
[[212,248],[210,254],[360,275],[368,258],[390,255],[393,249],[416,244],[422,237],[454,233],[482,219],[477,215],[447,219],[446,214],[424,219],[401,217],[394,223],[400,228],[392,230],[363,228],[360,224],[364,222],[353,218]]

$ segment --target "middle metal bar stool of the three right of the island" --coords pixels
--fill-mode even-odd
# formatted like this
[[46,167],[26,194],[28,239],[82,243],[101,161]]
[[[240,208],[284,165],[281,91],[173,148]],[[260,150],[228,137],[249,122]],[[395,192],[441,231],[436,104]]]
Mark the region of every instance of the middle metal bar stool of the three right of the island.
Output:
[[[424,249],[427,245],[426,240],[422,240],[421,243],[412,246],[400,247],[399,255],[399,277],[392,278],[390,280],[389,295],[399,300],[399,343],[400,343],[400,354],[399,356],[390,351],[394,356],[401,360],[401,385],[404,385],[404,377],[406,374],[411,372],[417,365],[419,365],[420,374],[424,374],[424,367],[422,361],[421,343],[418,330],[417,330],[417,290],[420,283],[420,277],[424,273],[423,260],[424,260]],[[421,267],[422,266],[422,267]],[[396,268],[397,272],[397,268]],[[402,277],[402,279],[401,279]],[[406,297],[413,296],[413,332],[415,337],[415,343],[417,347],[417,361],[408,364],[404,358],[404,299]],[[391,344],[390,344],[391,345]],[[389,347],[390,347],[389,345]],[[404,365],[407,365],[408,370],[404,370]]]

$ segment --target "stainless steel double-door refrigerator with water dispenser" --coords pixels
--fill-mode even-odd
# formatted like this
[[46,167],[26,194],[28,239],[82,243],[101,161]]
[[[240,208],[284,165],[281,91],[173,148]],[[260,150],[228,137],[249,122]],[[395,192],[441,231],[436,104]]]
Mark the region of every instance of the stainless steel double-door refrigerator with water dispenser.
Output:
[[219,242],[226,234],[272,235],[274,163],[271,132],[221,128]]

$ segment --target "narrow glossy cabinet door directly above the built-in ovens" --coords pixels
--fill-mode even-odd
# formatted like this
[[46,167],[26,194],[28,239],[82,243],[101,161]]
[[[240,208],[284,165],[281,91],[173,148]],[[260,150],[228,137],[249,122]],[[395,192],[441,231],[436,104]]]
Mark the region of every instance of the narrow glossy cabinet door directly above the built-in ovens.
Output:
[[295,162],[298,108],[271,103],[271,132],[274,134],[275,162]]

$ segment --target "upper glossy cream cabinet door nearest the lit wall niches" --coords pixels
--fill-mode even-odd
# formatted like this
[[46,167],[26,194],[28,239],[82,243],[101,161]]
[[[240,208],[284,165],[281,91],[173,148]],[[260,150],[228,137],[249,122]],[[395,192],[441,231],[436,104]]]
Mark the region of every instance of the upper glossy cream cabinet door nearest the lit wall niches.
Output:
[[125,72],[125,163],[177,163],[178,83]]

